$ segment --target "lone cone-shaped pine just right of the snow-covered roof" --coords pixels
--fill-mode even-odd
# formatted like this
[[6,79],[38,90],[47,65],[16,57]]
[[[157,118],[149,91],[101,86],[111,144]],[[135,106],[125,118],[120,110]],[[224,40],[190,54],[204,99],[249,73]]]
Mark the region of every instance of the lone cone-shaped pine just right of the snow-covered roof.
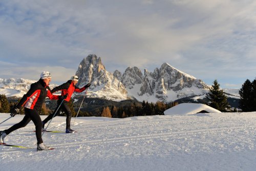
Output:
[[220,89],[220,84],[217,80],[215,80],[214,85],[211,86],[210,92],[207,94],[206,99],[208,101],[208,106],[219,111],[224,112],[227,108],[229,108],[227,96],[224,94],[223,90]]

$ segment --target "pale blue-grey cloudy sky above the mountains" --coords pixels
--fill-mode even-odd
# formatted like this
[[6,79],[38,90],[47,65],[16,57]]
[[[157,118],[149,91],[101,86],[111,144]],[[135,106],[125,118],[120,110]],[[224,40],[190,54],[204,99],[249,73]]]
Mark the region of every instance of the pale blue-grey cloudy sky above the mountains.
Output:
[[48,70],[61,84],[95,54],[111,72],[167,62],[208,85],[241,88],[256,78],[255,9],[253,0],[2,0],[0,78]]

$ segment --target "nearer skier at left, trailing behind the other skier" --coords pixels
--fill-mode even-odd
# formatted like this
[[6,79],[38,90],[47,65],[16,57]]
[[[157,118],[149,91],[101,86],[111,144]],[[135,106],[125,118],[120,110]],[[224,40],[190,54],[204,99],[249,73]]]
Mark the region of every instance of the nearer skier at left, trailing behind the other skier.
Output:
[[41,109],[42,104],[45,102],[46,96],[51,100],[62,99],[62,96],[53,95],[49,88],[49,82],[51,81],[51,74],[48,71],[44,71],[40,75],[39,81],[31,84],[29,91],[22,97],[19,103],[11,110],[11,116],[14,117],[19,109],[24,106],[25,116],[19,123],[13,125],[7,130],[0,131],[0,142],[4,142],[4,138],[19,128],[23,128],[32,120],[35,124],[35,134],[37,139],[37,151],[49,150],[49,146],[46,146],[41,137],[42,121],[38,114],[38,110]]

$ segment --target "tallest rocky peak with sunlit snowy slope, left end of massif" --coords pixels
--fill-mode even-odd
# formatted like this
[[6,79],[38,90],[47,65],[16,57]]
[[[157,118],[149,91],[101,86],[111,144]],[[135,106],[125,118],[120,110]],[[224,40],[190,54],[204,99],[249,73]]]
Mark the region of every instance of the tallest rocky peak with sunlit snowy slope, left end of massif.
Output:
[[[120,73],[116,71],[116,76],[118,74]],[[79,87],[91,83],[90,90],[94,92],[108,93],[110,96],[112,94],[114,98],[126,98],[127,91],[124,85],[111,72],[105,70],[101,58],[96,55],[89,55],[84,58],[76,71],[76,75],[79,78],[77,84]],[[99,87],[101,88],[99,89]]]

